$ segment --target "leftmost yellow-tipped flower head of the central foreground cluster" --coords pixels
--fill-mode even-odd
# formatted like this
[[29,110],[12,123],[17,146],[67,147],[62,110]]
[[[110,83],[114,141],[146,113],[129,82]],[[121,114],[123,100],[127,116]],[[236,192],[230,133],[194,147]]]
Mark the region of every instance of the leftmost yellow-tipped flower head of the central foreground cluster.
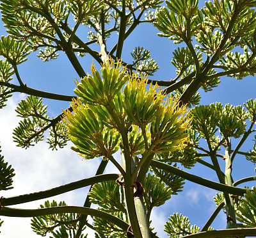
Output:
[[105,127],[99,116],[79,100],[74,100],[71,106],[74,115],[68,110],[64,111],[63,122],[68,138],[76,146],[71,147],[72,150],[86,159],[108,158],[108,155],[114,154],[118,150],[120,134]]

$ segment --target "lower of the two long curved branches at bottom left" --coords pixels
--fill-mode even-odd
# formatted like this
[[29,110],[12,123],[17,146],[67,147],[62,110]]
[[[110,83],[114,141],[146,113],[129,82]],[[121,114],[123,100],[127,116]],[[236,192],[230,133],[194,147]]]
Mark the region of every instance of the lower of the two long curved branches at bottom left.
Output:
[[114,223],[116,226],[119,226],[123,230],[127,230],[129,224],[125,221],[116,218],[107,212],[102,212],[101,210],[91,209],[88,207],[75,207],[75,206],[64,206],[64,207],[47,207],[44,209],[15,209],[10,207],[1,207],[0,216],[11,216],[19,218],[31,218],[35,216],[45,216],[51,214],[60,214],[60,213],[78,213],[86,214],[90,216],[97,216],[104,220]]

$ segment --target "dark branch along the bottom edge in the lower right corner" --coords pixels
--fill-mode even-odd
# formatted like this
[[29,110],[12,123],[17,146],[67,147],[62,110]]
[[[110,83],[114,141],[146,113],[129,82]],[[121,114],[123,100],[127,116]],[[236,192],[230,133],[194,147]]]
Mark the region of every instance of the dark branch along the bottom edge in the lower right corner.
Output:
[[221,237],[253,237],[256,235],[256,228],[236,228],[225,230],[211,230],[209,232],[199,232],[196,234],[182,236],[181,238],[221,238]]

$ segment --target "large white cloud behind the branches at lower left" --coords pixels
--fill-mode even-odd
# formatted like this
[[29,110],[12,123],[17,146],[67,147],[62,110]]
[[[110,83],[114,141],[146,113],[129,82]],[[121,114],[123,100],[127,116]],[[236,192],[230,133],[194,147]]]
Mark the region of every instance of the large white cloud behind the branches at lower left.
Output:
[[[13,97],[8,101],[8,106],[1,109],[0,117],[0,145],[4,155],[4,161],[8,162],[15,169],[13,177],[13,189],[1,191],[0,196],[9,197],[19,194],[32,193],[50,189],[52,187],[74,182],[76,180],[91,177],[95,174],[99,165],[99,159],[93,161],[82,161],[75,152],[67,146],[58,151],[48,149],[47,143],[41,141],[35,147],[19,148],[12,141],[13,129],[19,123],[20,118],[15,115],[15,107],[20,97]],[[68,205],[83,206],[88,188],[77,189],[69,193],[49,198],[60,202],[65,200]],[[24,209],[36,209],[44,200],[31,203],[14,205],[13,207]],[[30,228],[30,218],[7,218],[1,226],[1,237],[35,237]],[[15,228],[14,228],[15,227]]]

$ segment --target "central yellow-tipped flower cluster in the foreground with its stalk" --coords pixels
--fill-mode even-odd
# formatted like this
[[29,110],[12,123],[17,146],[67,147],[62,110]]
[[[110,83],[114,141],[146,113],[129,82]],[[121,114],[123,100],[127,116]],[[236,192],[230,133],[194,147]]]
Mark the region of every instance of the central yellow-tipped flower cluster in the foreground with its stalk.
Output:
[[[143,181],[155,154],[179,150],[188,138],[191,123],[186,106],[167,97],[159,86],[147,86],[147,77],[129,74],[119,61],[109,60],[100,73],[92,65],[92,75],[77,82],[78,96],[72,102],[74,114],[65,111],[63,122],[73,150],[85,159],[108,159],[122,174],[130,232],[134,237],[150,237]],[[122,153],[122,164],[113,154]]]

